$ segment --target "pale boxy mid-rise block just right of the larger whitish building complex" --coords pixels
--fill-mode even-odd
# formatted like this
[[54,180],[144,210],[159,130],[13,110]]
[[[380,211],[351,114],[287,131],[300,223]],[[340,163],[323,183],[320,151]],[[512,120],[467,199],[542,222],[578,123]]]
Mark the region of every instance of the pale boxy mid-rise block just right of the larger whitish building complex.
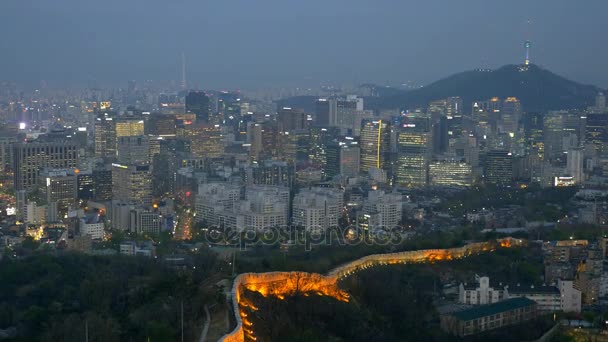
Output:
[[300,191],[293,200],[293,220],[306,231],[324,231],[337,227],[344,207],[344,193],[330,188]]

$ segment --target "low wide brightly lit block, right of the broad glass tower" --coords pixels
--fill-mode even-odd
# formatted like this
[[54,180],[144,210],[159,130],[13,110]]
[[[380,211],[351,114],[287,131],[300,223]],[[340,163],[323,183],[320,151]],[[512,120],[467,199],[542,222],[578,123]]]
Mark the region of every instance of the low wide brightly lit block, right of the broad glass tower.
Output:
[[454,160],[434,161],[429,164],[429,183],[440,186],[471,186],[473,168]]

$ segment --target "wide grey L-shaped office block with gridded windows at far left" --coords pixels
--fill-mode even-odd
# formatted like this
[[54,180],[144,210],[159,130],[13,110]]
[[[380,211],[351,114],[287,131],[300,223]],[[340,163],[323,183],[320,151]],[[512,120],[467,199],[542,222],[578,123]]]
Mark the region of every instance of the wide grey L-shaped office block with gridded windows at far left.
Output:
[[13,145],[15,190],[31,190],[38,185],[44,168],[75,168],[78,147],[72,143],[18,143]]

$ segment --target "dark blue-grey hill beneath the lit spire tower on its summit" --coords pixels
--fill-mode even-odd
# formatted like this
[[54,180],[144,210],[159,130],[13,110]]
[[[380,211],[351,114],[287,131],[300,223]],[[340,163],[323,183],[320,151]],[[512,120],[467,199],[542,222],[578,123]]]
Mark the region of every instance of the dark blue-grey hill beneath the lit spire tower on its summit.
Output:
[[424,107],[430,101],[450,96],[463,98],[465,110],[473,101],[494,96],[520,99],[526,111],[586,108],[593,105],[601,91],[556,75],[536,65],[522,71],[519,65],[506,65],[493,71],[466,71],[426,87],[398,95],[370,99],[368,104],[380,108]]

